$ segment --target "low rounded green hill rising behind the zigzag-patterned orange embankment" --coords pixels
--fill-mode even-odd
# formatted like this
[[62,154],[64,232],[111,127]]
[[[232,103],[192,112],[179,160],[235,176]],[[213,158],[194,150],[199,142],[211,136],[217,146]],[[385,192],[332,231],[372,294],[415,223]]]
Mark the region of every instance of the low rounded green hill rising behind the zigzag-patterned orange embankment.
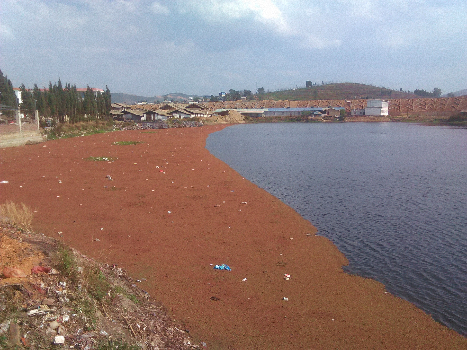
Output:
[[358,98],[417,98],[412,93],[401,92],[372,85],[333,83],[308,88],[265,92],[255,95],[260,100],[339,100]]

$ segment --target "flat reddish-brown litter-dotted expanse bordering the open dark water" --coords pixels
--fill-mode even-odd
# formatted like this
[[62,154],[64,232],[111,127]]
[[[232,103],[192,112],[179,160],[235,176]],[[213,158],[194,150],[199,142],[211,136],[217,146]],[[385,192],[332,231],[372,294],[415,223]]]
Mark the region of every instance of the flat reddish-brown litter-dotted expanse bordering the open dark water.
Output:
[[[335,245],[307,237],[316,232],[308,221],[212,156],[206,137],[223,127],[0,149],[9,181],[0,203],[27,203],[36,231],[61,231],[79,251],[147,279],[141,287],[210,349],[467,349],[382,284],[343,273]],[[144,143],[112,145],[128,140]],[[223,263],[232,271],[210,266]]]

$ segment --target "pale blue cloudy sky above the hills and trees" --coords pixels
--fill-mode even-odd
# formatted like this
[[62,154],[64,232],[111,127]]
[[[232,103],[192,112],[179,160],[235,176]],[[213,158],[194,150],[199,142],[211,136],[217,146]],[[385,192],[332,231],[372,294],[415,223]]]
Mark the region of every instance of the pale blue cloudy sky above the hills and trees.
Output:
[[0,69],[141,96],[467,88],[466,0],[1,0]]

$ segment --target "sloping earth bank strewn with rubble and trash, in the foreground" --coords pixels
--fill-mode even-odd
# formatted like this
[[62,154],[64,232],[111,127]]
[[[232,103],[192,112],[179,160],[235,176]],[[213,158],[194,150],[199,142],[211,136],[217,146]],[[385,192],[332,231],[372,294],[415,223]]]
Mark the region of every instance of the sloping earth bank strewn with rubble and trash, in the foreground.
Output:
[[[10,224],[0,235],[0,348],[200,347],[124,269]],[[26,276],[6,277],[13,268]]]

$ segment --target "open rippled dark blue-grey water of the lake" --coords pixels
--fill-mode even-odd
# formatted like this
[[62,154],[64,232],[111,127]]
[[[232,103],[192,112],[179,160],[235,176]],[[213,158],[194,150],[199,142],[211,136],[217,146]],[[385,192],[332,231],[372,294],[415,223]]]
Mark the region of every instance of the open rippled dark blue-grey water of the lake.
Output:
[[467,335],[466,128],[248,124],[206,147],[310,220],[349,273]]

